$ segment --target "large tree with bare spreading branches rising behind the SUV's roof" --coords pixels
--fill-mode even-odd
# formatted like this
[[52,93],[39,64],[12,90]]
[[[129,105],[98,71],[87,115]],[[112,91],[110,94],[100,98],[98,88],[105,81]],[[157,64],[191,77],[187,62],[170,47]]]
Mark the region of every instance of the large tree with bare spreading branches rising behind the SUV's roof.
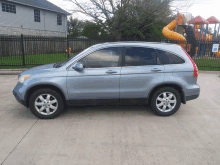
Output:
[[[151,26],[159,25],[176,9],[171,3],[174,0],[87,0],[85,3],[79,0],[69,1],[75,5],[72,10],[74,13],[89,16],[117,40],[123,37],[123,33],[136,33],[135,37],[144,38],[144,33],[150,31]],[[184,1],[177,8],[187,6]]]

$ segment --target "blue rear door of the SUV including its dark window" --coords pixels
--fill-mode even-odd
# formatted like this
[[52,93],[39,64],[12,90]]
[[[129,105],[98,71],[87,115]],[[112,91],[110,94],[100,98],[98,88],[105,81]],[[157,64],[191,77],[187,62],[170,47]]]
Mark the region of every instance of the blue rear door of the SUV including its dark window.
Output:
[[120,99],[147,98],[150,89],[163,83],[164,66],[153,48],[125,47],[120,78]]

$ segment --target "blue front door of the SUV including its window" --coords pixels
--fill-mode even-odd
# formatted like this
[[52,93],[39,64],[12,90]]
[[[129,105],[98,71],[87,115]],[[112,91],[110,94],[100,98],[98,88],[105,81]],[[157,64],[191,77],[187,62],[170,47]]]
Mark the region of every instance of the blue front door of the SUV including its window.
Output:
[[120,55],[123,49],[111,47],[97,50],[78,62],[83,71],[70,68],[67,89],[70,100],[119,100]]

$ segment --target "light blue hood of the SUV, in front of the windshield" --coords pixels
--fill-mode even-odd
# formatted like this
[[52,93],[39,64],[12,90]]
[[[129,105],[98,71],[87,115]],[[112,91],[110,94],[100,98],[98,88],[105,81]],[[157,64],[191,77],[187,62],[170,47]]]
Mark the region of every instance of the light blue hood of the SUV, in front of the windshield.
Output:
[[24,74],[38,74],[38,73],[42,73],[42,72],[49,72],[54,70],[55,68],[53,68],[53,64],[46,64],[46,65],[40,65],[40,66],[35,66],[33,68],[27,69],[25,71],[23,71],[20,75],[24,75]]

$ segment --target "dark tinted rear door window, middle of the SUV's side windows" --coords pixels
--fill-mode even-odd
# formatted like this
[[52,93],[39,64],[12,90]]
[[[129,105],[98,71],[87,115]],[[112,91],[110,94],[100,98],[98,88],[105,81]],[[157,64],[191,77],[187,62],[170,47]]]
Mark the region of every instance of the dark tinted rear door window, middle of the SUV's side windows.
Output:
[[127,47],[125,66],[157,65],[157,54],[152,48]]

